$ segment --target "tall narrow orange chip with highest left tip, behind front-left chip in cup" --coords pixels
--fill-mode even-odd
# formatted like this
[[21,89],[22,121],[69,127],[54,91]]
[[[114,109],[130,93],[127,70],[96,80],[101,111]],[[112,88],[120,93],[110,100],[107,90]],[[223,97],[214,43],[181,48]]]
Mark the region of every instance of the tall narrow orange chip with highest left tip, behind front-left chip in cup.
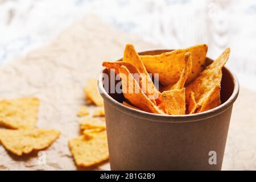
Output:
[[[142,63],[142,60],[140,59],[132,44],[126,44],[123,61],[133,64],[134,67],[138,68],[139,72],[141,72],[141,79],[143,80],[142,83],[147,83],[141,84],[143,92],[155,105],[159,104],[161,102],[159,97],[161,93],[158,92],[158,90],[155,88],[155,85],[152,82],[150,76],[148,75],[147,70]],[[127,69],[129,70],[129,68]]]

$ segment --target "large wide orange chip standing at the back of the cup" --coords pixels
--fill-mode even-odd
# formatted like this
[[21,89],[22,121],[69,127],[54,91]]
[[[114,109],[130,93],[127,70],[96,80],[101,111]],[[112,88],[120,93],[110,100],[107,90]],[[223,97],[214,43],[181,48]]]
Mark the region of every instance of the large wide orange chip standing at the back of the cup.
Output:
[[186,83],[194,80],[204,70],[208,47],[205,44],[164,52],[155,56],[140,56],[149,73],[159,73],[159,81],[163,86],[175,84],[185,67],[183,59],[186,52],[191,52],[192,69]]

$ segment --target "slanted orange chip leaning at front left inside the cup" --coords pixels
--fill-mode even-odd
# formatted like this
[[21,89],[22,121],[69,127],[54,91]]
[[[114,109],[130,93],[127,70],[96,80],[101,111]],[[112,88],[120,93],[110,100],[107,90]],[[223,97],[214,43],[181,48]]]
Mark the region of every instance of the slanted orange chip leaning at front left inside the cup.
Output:
[[119,68],[119,73],[122,79],[123,96],[125,96],[131,104],[143,111],[162,114],[162,111],[160,111],[160,109],[148,99],[146,94],[142,92],[137,81],[135,81],[134,77],[125,66]]

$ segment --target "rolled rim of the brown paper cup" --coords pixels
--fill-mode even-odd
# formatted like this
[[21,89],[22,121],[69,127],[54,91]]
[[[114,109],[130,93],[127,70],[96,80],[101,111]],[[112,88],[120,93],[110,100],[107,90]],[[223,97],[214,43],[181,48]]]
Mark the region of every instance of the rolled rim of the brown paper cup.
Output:
[[[152,51],[173,51],[172,49],[154,49],[154,50],[149,50],[149,51],[142,51],[138,52],[138,54],[143,54],[147,52],[152,52]],[[210,59],[209,57],[207,57]],[[122,58],[121,58],[122,59]],[[118,59],[118,60],[121,60]],[[150,121],[155,121],[155,122],[175,122],[175,123],[185,123],[185,122],[195,122],[195,121],[201,121],[203,119],[211,118],[214,117],[215,115],[221,114],[224,111],[228,110],[229,107],[231,107],[236,101],[239,93],[239,83],[237,80],[237,77],[234,75],[230,69],[227,67],[224,67],[226,71],[230,73],[232,76],[232,81],[234,82],[234,90],[232,95],[228,98],[227,101],[225,101],[223,104],[221,104],[218,107],[214,107],[213,109],[210,109],[208,111],[204,111],[202,113],[196,113],[196,114],[185,114],[185,115],[167,115],[167,114],[155,114],[155,113],[148,113],[147,111],[143,110],[138,110],[138,109],[133,109],[131,107],[127,107],[123,105],[122,103],[114,100],[104,89],[103,82],[102,82],[102,74],[98,76],[98,91],[100,92],[101,96],[104,98],[104,102],[108,102],[108,104],[112,105],[115,109],[122,111],[122,113],[129,114],[133,117],[141,118],[141,119],[146,119]],[[101,73],[104,72],[105,69],[101,71]]]

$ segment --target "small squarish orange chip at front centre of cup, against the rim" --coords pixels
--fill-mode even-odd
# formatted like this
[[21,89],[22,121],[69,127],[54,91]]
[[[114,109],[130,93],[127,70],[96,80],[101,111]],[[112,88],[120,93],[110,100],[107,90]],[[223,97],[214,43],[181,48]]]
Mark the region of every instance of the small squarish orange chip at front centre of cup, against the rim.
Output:
[[181,115],[185,114],[185,88],[168,90],[162,93],[163,101],[159,108],[166,114]]

